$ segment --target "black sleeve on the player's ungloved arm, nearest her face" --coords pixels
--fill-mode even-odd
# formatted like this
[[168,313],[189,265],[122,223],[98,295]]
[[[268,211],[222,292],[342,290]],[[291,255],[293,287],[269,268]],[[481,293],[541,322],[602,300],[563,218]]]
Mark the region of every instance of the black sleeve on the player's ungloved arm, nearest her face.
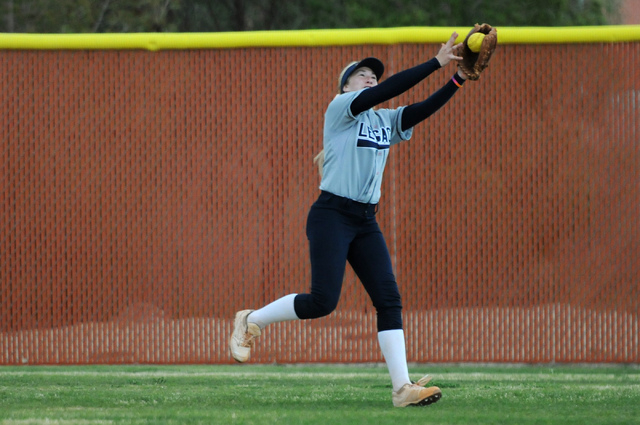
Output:
[[358,115],[382,102],[401,95],[439,68],[440,62],[438,62],[436,58],[433,58],[421,65],[392,75],[377,86],[366,89],[360,93],[358,97],[351,102],[351,113],[354,116]]

